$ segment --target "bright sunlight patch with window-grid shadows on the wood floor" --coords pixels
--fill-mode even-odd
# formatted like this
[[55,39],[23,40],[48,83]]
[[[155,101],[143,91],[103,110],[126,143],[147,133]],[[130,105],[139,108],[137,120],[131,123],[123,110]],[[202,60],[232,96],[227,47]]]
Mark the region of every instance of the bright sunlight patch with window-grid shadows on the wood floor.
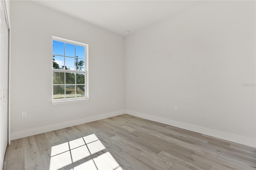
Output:
[[[52,146],[50,170],[122,170],[95,134]],[[91,157],[98,154],[97,157]]]

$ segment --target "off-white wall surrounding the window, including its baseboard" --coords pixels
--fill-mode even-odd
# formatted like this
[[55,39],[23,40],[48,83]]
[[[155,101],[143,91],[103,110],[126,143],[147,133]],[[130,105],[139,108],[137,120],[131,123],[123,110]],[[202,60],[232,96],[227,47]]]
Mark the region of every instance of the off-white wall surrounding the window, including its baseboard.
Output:
[[[10,5],[12,139],[124,113],[122,36],[31,1]],[[89,102],[51,104],[52,36],[89,44]]]

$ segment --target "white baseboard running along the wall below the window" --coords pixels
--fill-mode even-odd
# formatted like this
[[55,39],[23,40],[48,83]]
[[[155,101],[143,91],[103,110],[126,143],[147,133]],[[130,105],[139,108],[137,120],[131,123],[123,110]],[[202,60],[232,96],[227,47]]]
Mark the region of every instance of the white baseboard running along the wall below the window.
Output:
[[24,137],[32,136],[35,134],[50,132],[52,130],[58,130],[61,128],[72,127],[75,125],[80,125],[80,124],[88,123],[88,122],[92,122],[92,121],[98,121],[100,119],[118,116],[118,115],[122,115],[124,113],[125,113],[125,110],[121,110],[121,111],[106,113],[106,114],[102,114],[102,115],[96,115],[96,116],[92,116],[92,117],[85,117],[82,119],[77,119],[77,120],[68,121],[68,122],[64,122],[64,123],[58,123],[58,124],[48,125],[48,126],[44,126],[44,127],[36,127],[36,128],[28,129],[28,130],[12,132],[11,140],[24,138]]

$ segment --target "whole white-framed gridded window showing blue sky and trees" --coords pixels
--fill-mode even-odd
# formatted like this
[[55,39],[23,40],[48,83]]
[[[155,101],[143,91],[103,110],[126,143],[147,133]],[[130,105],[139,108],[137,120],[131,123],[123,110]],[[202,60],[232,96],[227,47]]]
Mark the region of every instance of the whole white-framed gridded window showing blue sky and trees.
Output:
[[52,37],[52,101],[88,99],[88,44]]

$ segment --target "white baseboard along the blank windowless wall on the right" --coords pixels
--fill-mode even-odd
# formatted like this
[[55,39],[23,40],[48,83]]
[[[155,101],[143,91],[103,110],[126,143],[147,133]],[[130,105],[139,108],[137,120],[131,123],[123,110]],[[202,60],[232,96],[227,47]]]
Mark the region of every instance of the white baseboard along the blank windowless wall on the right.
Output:
[[165,119],[162,117],[156,117],[156,116],[147,115],[144,113],[138,113],[138,112],[129,111],[129,110],[126,110],[126,113],[128,115],[133,115],[133,116],[140,117],[143,119],[148,119],[150,121],[164,123],[166,125],[171,125],[171,126],[183,128],[186,130],[191,130],[194,132],[206,134],[206,135],[213,136],[216,138],[220,138],[220,139],[224,139],[224,140],[228,140],[231,142],[236,142],[236,143],[240,143],[240,144],[244,144],[244,145],[256,148],[256,139],[254,139],[254,138],[248,138],[248,137],[240,136],[237,134],[214,130],[211,128],[200,127],[200,126],[196,126],[196,125],[192,125],[192,124],[188,124],[188,123],[173,121],[171,119]]

